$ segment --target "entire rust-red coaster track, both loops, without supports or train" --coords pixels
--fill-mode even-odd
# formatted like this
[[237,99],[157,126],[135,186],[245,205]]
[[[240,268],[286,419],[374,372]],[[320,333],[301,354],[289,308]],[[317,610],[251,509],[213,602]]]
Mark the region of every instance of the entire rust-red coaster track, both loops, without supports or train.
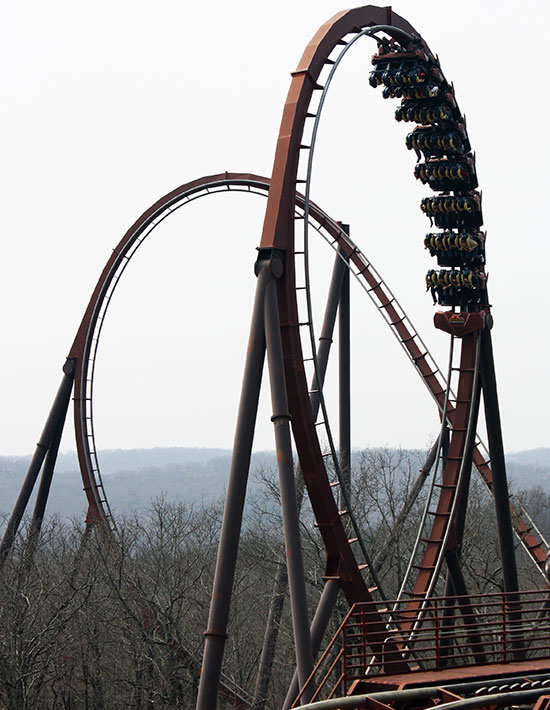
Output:
[[[77,452],[84,490],[88,500],[88,521],[100,522],[107,529],[115,530],[115,522],[105,494],[97,450],[93,423],[93,387],[98,343],[111,297],[127,265],[139,246],[149,234],[170,214],[183,205],[213,193],[246,191],[267,195],[266,216],[260,243],[260,251],[283,255],[282,278],[276,282],[280,334],[284,359],[284,376],[288,395],[288,408],[296,444],[298,458],[307,487],[308,495],[322,536],[326,552],[326,579],[335,580],[342,588],[350,605],[373,600],[373,595],[382,590],[369,587],[363,576],[363,568],[369,567],[369,559],[364,546],[360,553],[366,558],[359,560],[355,547],[361,546],[360,534],[355,525],[354,537],[349,536],[342,521],[342,513],[352,516],[352,510],[340,510],[334,497],[325,465],[327,455],[320,445],[319,430],[324,426],[330,445],[330,454],[338,475],[338,484],[347,503],[349,499],[342,485],[338,470],[338,459],[332,442],[328,411],[324,402],[322,381],[316,349],[311,297],[309,288],[309,247],[308,230],[312,226],[344,260],[350,272],[359,281],[377,310],[384,318],[409,361],[422,378],[435,400],[442,423],[451,430],[450,448],[443,457],[443,471],[439,497],[435,509],[429,511],[433,522],[429,535],[423,540],[424,550],[420,564],[412,565],[416,579],[404,593],[410,596],[409,608],[416,612],[421,609],[422,600],[429,596],[435,582],[443,556],[453,534],[451,522],[457,500],[457,487],[464,474],[465,456],[469,437],[472,436],[472,402],[476,392],[479,361],[479,333],[465,335],[462,340],[460,366],[457,369],[458,386],[456,395],[451,389],[450,377],[443,376],[431,357],[425,344],[412,326],[397,299],[343,228],[328,217],[310,200],[311,174],[317,127],[323,103],[334,72],[341,59],[355,42],[363,36],[385,33],[394,42],[405,47],[414,39],[416,47],[421,47],[426,57],[439,66],[429,47],[414,28],[392,12],[390,8],[367,6],[345,11],[323,25],[306,48],[296,71],[285,104],[283,119],[271,180],[250,174],[228,174],[200,178],[182,185],[158,200],[130,227],[105,265],[91,296],[68,361],[74,365],[74,420]],[[328,76],[327,76],[328,74]],[[324,77],[324,78],[322,78]],[[456,107],[458,111],[458,107]],[[307,160],[306,160],[307,159]],[[304,169],[304,161],[306,163]],[[297,193],[300,184],[305,185],[305,194]],[[437,198],[434,198],[437,199]],[[304,225],[303,244],[298,244],[296,224]],[[300,271],[299,260],[302,259]],[[303,283],[299,275],[303,273]],[[307,313],[305,319],[300,313],[297,290],[305,290]],[[478,309],[489,314],[485,303]],[[304,354],[305,338],[302,328],[307,326],[310,353]],[[451,339],[454,336],[451,336]],[[306,379],[306,362],[314,364],[315,380],[318,384],[320,403],[319,419],[313,413],[311,390]],[[474,429],[475,431],[475,429]],[[481,440],[473,446],[473,463],[486,486],[493,490],[493,475],[487,450]],[[548,544],[537,530],[533,521],[521,506],[510,501],[512,522],[515,532],[530,557],[543,570]],[[405,672],[408,661],[402,654],[403,645],[397,639],[387,641],[387,630],[382,616],[375,605],[369,620],[369,635],[366,642],[373,655],[384,658],[380,665],[391,665],[392,670]],[[411,617],[412,618],[412,617]],[[411,622],[412,623],[412,622]],[[214,634],[211,634],[214,635]],[[384,645],[385,644],[385,645]]]

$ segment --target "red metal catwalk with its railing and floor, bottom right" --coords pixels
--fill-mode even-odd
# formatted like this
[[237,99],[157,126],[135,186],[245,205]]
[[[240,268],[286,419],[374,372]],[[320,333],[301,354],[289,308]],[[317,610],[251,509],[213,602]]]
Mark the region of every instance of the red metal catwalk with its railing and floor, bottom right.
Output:
[[[520,630],[529,628],[531,632],[529,642],[525,645],[530,660],[523,662],[524,665],[521,662],[517,663],[511,652],[518,636],[517,625],[510,621],[510,607],[516,604],[511,599],[512,596],[515,600],[516,595],[505,593],[482,594],[468,598],[468,613],[457,618],[451,628],[443,627],[438,623],[440,614],[449,603],[457,606],[464,605],[464,598],[429,599],[425,626],[422,632],[417,633],[408,644],[409,653],[414,653],[414,659],[418,664],[406,676],[391,670],[389,673],[382,670],[376,674],[372,673],[371,657],[364,644],[364,639],[368,636],[368,621],[363,614],[369,604],[355,604],[310,676],[308,682],[316,687],[313,700],[344,696],[350,689],[353,690],[353,694],[361,694],[382,687],[402,687],[405,679],[409,685],[417,684],[418,681],[411,679],[414,676],[423,679],[422,685],[434,682],[449,683],[465,677],[461,669],[470,669],[466,672],[467,677],[472,673],[473,666],[476,667],[475,673],[479,677],[510,674],[519,668],[527,671],[531,666],[535,670],[545,670],[550,657],[550,618],[547,611],[545,621],[541,623],[540,610],[545,608],[548,590],[520,593],[519,603],[522,611]],[[388,637],[392,628],[396,630],[396,634],[400,634],[397,628],[403,627],[408,619],[407,602],[403,600],[389,602],[391,611],[386,605],[381,607],[378,604],[378,606],[388,628]],[[483,645],[486,651],[486,660],[481,667],[476,661],[478,651],[472,648],[470,641],[472,630],[479,633],[482,639],[479,645]],[[442,648],[446,649],[444,655],[440,653]],[[445,670],[447,666],[452,668]],[[498,673],[496,666],[499,667]],[[323,668],[327,670],[322,672]],[[367,671],[370,671],[369,674]],[[293,707],[297,707],[297,702]]]

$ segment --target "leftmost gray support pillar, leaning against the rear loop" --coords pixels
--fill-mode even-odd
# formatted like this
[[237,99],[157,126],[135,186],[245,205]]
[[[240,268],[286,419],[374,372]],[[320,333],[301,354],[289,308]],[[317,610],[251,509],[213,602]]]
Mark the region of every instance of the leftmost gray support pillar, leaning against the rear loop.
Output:
[[50,413],[46,419],[40,439],[36,444],[34,455],[29,464],[29,468],[13,507],[10,519],[6,525],[2,542],[0,543],[0,567],[4,564],[4,561],[13,544],[17,530],[19,529],[19,525],[21,523],[21,518],[25,513],[25,509],[29,502],[29,498],[31,497],[36,479],[38,478],[38,474],[42,468],[44,457],[52,445],[56,431],[60,426],[62,427],[62,422],[65,420],[67,408],[71,399],[73,381],[74,360],[67,360],[63,365],[63,379],[61,380],[61,384],[59,385],[59,389],[55,395],[52,408],[50,409]]

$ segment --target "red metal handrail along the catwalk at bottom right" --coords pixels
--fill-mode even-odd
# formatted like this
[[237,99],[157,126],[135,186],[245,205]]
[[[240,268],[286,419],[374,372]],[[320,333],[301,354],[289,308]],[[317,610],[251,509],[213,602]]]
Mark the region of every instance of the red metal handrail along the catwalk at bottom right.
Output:
[[[519,650],[524,651],[527,658],[550,658],[549,602],[549,589],[529,590],[519,594],[495,592],[426,599],[422,609],[423,629],[415,634],[412,643],[403,647],[403,655],[407,656],[411,649],[414,650],[418,664],[411,669],[412,674],[479,665],[476,654],[481,647],[487,657],[483,665],[512,663],[516,660],[514,654],[518,651],[518,639],[521,643]],[[372,654],[364,643],[368,636],[367,615],[373,604],[378,606],[386,619],[388,642],[401,642],[402,635],[396,627],[400,622],[410,622],[405,600],[389,602],[393,605],[391,610],[379,602],[354,604],[308,679],[308,684],[313,683],[316,687],[312,702],[323,696],[332,698],[336,694],[345,695],[351,683],[368,677],[373,668],[376,668],[376,677],[392,674],[391,662],[384,662],[384,668],[390,667],[390,673],[380,666],[380,658],[377,659],[377,666],[372,665]],[[457,611],[452,627],[441,623],[449,608]],[[521,612],[520,623],[514,621],[518,609]],[[545,617],[544,622],[541,612]],[[479,633],[478,643],[472,643],[472,631]],[[331,658],[333,660],[328,670],[323,672]],[[395,672],[399,673],[397,669]],[[297,706],[296,702],[294,706]]]

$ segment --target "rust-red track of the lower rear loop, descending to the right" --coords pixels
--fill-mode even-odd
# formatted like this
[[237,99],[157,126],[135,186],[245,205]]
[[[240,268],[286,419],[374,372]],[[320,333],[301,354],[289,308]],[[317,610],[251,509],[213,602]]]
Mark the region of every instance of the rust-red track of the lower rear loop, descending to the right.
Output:
[[[141,241],[143,241],[145,234],[148,235],[152,229],[160,224],[162,219],[179,209],[179,207],[187,204],[187,202],[190,202],[199,196],[217,192],[226,192],[235,189],[242,189],[245,192],[265,194],[268,188],[269,181],[266,178],[240,173],[221,173],[215,176],[200,178],[192,181],[191,183],[186,183],[185,185],[176,188],[162,197],[143,215],[141,215],[141,217],[138,218],[132,227],[130,227],[117,247],[113,250],[113,254],[103,269],[102,275],[98,281],[94,293],[92,294],[90,303],[71,348],[70,355],[70,357],[74,357],[76,359],[77,370],[79,373],[77,382],[80,386],[75,387],[75,428],[77,432],[77,449],[79,454],[79,462],[81,464],[80,468],[85,492],[91,509],[91,519],[106,521],[109,517],[109,511],[105,512],[103,504],[100,502],[101,499],[99,493],[102,490],[102,482],[100,479],[99,466],[93,467],[90,462],[90,449],[95,454],[95,446],[93,432],[90,433],[87,426],[89,426],[88,422],[93,420],[93,412],[90,409],[85,409],[84,407],[91,402],[91,399],[87,399],[86,395],[83,397],[81,393],[84,389],[83,382],[86,382],[88,379],[87,376],[90,363],[92,367],[90,377],[92,379],[93,386],[93,368],[95,365],[97,347],[99,344],[99,334],[101,333],[100,329],[103,325],[103,318],[105,317],[108,302],[110,301],[114,288],[118,283],[118,278],[120,278],[120,275],[129,262],[131,255],[133,255],[133,252],[130,251],[131,248],[141,235],[143,235],[141,239]],[[303,204],[303,198],[300,196],[297,197],[297,204],[298,206]],[[352,242],[352,240],[341,230],[338,223],[331,220],[316,206],[314,214],[317,224],[315,227],[316,231],[332,247],[333,250],[337,251],[338,246],[342,246],[343,254],[349,258],[348,268],[351,273],[360,283],[370,300],[377,306],[377,310],[380,315],[384,318],[386,324],[390,327],[393,335],[405,351],[408,359],[421,376],[424,384],[430,391],[430,394],[436,401],[438,407],[442,409],[443,402],[441,401],[441,394],[444,393],[446,389],[445,378],[439,370],[436,362],[431,357],[418,332],[414,329],[412,322],[406,315],[398,300],[384,282],[379,272],[364,257],[354,242]],[[141,243],[141,241],[139,243]],[[139,243],[135,246],[136,249],[138,248]],[[117,273],[117,269],[119,267],[121,267],[121,270]],[[115,285],[109,292],[109,284],[113,281],[113,279],[115,279],[115,276],[118,276],[118,278],[116,278]],[[103,304],[99,302],[103,300],[106,300],[107,303],[103,306],[103,310],[101,310]],[[94,320],[94,316],[96,314],[101,314],[102,316],[99,323],[99,330],[95,329],[95,325],[99,320],[98,318],[95,318]],[[83,362],[86,355],[88,356],[88,361]],[[93,392],[93,390],[88,390],[87,394],[90,394],[91,392]],[[476,453],[476,467],[478,470],[481,468],[480,473],[482,474],[483,480],[487,483],[487,481],[490,480],[490,467],[486,462],[485,457],[478,449],[476,449]],[[480,461],[481,466],[479,463]],[[96,470],[94,470],[94,468]],[[105,495],[103,497],[106,498]],[[513,517],[516,533],[520,537],[520,540],[524,546],[526,546],[526,542],[531,543],[531,546],[527,547],[527,549],[532,557],[533,542],[536,543],[535,549],[542,553],[536,561],[539,564],[539,567],[543,566],[543,562],[541,563],[540,559],[544,557],[544,550],[542,549],[542,546],[543,544],[547,546],[546,541],[542,535],[537,537],[531,533],[529,533],[529,539],[527,539],[524,531],[533,528],[532,522],[529,520],[526,523],[521,514],[518,513],[515,513]]]

